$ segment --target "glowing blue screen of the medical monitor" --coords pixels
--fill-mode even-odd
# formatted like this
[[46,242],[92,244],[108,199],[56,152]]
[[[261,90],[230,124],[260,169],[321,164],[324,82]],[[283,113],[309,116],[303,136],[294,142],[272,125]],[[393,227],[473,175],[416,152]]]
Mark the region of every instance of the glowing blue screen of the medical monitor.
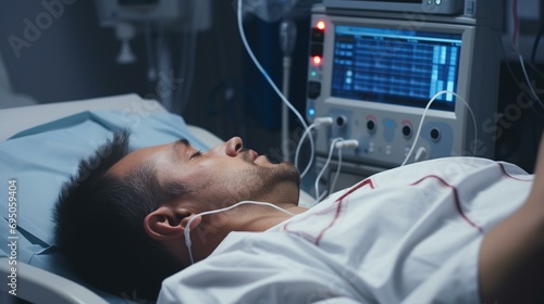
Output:
[[[457,90],[461,34],[336,25],[331,96],[425,107]],[[455,96],[431,109],[455,111]]]

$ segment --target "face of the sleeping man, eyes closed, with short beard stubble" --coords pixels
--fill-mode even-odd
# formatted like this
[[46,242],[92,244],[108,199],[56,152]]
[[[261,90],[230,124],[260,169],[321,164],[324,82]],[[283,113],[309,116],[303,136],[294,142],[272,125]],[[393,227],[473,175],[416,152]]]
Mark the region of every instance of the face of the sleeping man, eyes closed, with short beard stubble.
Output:
[[[176,182],[193,189],[201,211],[223,207],[239,201],[296,203],[299,174],[287,163],[272,164],[264,155],[243,148],[240,138],[200,153],[185,140],[136,150],[111,169],[126,175],[150,164],[161,185]],[[275,200],[275,201],[274,201]]]

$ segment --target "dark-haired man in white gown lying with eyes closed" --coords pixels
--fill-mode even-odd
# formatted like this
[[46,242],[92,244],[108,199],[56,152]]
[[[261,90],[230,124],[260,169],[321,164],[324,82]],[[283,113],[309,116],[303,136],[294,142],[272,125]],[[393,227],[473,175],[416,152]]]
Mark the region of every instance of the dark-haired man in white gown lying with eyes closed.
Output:
[[[113,130],[112,117],[100,124]],[[104,132],[55,213],[77,274],[113,294],[152,296],[168,276],[160,303],[520,303],[541,291],[544,191],[514,165],[428,161],[306,210],[296,170],[242,139],[154,145],[180,131],[143,125]]]

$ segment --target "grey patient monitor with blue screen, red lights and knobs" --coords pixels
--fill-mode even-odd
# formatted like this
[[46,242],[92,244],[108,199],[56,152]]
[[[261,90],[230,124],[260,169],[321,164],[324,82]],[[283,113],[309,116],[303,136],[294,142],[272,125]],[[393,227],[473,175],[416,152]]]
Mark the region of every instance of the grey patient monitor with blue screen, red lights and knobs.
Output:
[[312,11],[306,117],[334,122],[317,132],[318,166],[338,137],[358,140],[343,151],[342,172],[359,177],[403,164],[413,144],[408,163],[493,159],[487,124],[497,104],[503,2],[443,1],[446,11],[394,2],[324,1]]

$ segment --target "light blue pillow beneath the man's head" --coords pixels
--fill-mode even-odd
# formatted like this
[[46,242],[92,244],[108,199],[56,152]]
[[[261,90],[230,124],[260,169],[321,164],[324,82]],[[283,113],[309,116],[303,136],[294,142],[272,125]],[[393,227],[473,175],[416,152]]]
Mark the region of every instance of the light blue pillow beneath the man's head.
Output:
[[169,113],[128,116],[121,111],[82,112],[22,131],[0,142],[0,256],[9,256],[8,188],[16,180],[17,261],[65,275],[54,255],[53,206],[65,181],[77,172],[82,159],[111,137],[113,130],[132,130],[131,149],[163,144],[186,138],[207,150],[188,130],[182,117]]

